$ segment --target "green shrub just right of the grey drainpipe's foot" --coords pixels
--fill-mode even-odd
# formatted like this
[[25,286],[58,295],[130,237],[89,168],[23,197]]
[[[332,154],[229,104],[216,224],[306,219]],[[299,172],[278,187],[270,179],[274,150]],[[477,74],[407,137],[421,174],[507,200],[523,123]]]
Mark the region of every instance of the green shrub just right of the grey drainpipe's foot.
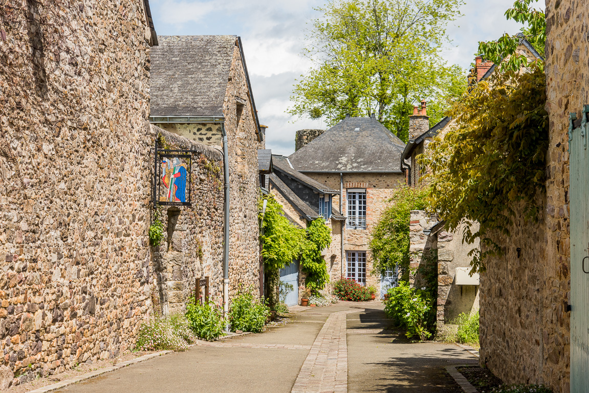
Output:
[[270,308],[264,300],[257,300],[252,293],[237,293],[229,309],[229,321],[233,331],[258,333],[264,329],[264,324],[270,316]]

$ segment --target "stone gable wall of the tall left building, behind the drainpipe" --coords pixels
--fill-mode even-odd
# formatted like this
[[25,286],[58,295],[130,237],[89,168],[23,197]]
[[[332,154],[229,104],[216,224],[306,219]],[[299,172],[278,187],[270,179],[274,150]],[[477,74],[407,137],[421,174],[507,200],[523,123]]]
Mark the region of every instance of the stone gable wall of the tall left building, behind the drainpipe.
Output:
[[[224,37],[227,39],[230,37]],[[160,37],[160,42],[190,42],[194,37]],[[234,42],[234,44],[233,44]],[[229,223],[229,292],[230,298],[240,285],[260,288],[260,243],[258,204],[260,184],[257,150],[265,141],[259,134],[250,97],[249,82],[243,67],[239,41],[231,41],[233,56],[223,99],[223,115],[229,148],[230,223]],[[187,113],[203,115],[203,113]],[[216,115],[210,113],[208,115]],[[217,114],[218,115],[218,114]],[[220,123],[154,123],[188,140],[222,149]],[[222,164],[221,164],[222,165]],[[220,190],[223,193],[223,190]]]

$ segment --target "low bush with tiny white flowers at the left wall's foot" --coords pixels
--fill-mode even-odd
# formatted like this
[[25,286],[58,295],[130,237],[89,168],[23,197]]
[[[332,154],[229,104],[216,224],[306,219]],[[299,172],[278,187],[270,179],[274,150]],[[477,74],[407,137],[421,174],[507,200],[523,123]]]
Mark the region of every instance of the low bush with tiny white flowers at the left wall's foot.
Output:
[[194,342],[194,334],[184,315],[168,318],[156,316],[141,324],[137,336],[137,349],[140,351],[186,351],[188,344]]

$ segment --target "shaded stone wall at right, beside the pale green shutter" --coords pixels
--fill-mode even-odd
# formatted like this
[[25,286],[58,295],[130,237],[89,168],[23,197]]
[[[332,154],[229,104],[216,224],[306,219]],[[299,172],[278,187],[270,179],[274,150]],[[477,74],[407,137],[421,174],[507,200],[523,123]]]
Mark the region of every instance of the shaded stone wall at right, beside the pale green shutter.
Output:
[[[543,382],[568,392],[570,232],[568,115],[589,104],[589,3],[547,0],[545,71],[550,143],[545,209],[516,222],[505,256],[481,276],[481,361],[508,382]],[[518,251],[519,249],[519,251]]]

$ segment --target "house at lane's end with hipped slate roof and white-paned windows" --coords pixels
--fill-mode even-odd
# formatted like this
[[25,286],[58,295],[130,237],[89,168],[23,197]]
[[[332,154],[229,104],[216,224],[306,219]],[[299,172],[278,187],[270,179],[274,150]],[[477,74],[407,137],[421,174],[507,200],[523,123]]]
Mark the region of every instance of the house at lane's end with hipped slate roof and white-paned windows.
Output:
[[[340,190],[340,197],[332,198],[331,203],[337,211],[345,212],[346,222],[340,227],[340,238],[332,242],[335,247],[339,240],[339,249],[329,261],[330,274],[381,288],[383,278],[372,273],[370,230],[386,200],[405,182],[400,164],[405,144],[375,117],[346,117],[312,138],[316,134],[312,130],[309,136],[300,136],[306,144],[289,160],[300,173],[324,187]],[[386,272],[384,282],[393,275]],[[385,287],[382,285],[381,293]]]

